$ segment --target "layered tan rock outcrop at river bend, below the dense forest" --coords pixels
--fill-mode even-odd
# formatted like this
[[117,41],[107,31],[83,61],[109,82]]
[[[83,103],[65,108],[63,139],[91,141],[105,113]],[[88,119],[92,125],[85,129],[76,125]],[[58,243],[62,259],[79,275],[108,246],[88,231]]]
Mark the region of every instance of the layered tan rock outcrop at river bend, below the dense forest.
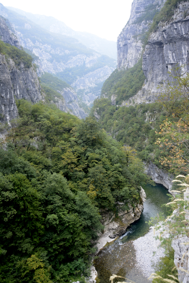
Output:
[[121,236],[126,232],[127,227],[131,223],[140,218],[144,208],[143,202],[146,199],[146,193],[142,187],[140,197],[140,202],[138,204],[136,203],[134,208],[130,206],[128,210],[123,210],[123,203],[118,203],[119,220],[113,220],[116,216],[112,212],[101,209],[102,225],[105,226],[104,234],[102,237],[108,236],[110,239],[114,239],[117,236]]

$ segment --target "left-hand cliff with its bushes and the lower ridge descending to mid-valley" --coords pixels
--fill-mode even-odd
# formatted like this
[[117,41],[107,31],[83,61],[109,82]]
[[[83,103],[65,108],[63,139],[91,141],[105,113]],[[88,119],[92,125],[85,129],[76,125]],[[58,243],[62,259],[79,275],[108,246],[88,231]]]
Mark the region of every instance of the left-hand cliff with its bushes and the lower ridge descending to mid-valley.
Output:
[[[87,113],[79,106],[77,94],[66,82],[50,74],[47,74],[48,76],[44,74],[41,78],[43,80],[41,88],[36,65],[32,64],[32,57],[23,50],[7,24],[13,28],[8,20],[5,22],[0,18],[1,122],[9,123],[18,116],[15,99],[22,98],[32,103],[43,101],[55,104],[64,112],[71,112],[80,119],[85,118]],[[47,84],[49,80],[50,85]]]

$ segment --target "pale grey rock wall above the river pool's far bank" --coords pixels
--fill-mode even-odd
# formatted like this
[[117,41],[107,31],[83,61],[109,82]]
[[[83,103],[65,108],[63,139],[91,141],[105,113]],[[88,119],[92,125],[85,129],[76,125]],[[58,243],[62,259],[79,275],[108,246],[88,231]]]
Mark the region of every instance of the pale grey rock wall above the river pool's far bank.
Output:
[[[171,176],[168,173],[165,173],[163,170],[159,169],[152,161],[149,161],[149,163],[145,163],[146,167],[146,173],[152,177],[152,180],[155,183],[162,184],[164,187],[166,187],[171,193],[172,180],[174,179],[173,176]],[[171,193],[172,194],[172,193]]]

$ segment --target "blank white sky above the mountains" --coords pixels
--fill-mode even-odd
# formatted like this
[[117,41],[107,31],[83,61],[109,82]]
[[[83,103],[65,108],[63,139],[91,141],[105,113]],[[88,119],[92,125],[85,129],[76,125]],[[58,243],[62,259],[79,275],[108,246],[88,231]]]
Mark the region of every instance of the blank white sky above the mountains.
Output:
[[76,31],[86,31],[108,40],[117,37],[130,17],[133,0],[0,0],[33,14],[52,16]]

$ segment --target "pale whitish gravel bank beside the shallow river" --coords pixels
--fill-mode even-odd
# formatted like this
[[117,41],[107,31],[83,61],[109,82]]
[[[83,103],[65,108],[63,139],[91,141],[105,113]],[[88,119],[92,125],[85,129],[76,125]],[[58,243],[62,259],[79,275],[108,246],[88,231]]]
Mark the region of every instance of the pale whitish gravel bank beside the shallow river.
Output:
[[[150,227],[151,228],[151,227]],[[154,237],[159,236],[159,231],[155,231],[153,227],[143,237],[140,237],[133,241],[134,248],[136,250],[137,267],[140,267],[143,274],[149,277],[154,271],[154,264],[157,264],[160,257],[163,257],[164,249],[160,247],[159,239]]]

